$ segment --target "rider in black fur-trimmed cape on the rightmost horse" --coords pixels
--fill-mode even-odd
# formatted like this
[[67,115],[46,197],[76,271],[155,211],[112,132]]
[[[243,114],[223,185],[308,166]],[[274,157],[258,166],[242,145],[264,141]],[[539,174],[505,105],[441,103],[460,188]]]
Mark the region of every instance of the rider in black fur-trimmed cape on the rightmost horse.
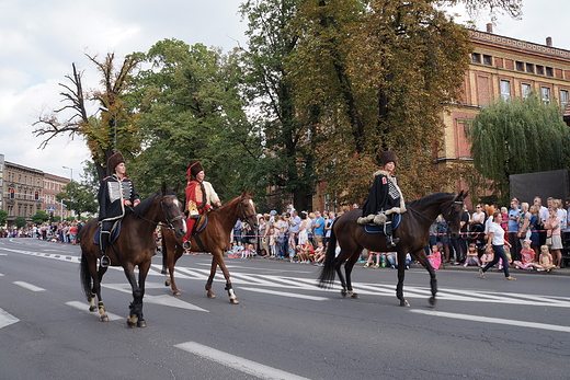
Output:
[[396,246],[399,238],[392,237],[392,221],[396,214],[406,212],[403,195],[398,186],[394,169],[396,168],[396,153],[387,150],[380,153],[384,169],[374,173],[374,183],[364,207],[362,217],[357,222],[361,224],[384,224],[386,245]]

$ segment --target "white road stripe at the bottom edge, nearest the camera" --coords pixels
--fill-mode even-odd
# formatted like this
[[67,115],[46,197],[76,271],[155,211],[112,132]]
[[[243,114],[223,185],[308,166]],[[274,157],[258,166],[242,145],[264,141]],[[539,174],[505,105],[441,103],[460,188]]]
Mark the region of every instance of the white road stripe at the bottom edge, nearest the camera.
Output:
[[281,369],[276,369],[273,367],[264,366],[262,364],[251,361],[239,356],[227,354],[218,349],[204,346],[196,342],[181,343],[174,345],[174,347],[261,379],[307,380],[307,378],[285,372]]

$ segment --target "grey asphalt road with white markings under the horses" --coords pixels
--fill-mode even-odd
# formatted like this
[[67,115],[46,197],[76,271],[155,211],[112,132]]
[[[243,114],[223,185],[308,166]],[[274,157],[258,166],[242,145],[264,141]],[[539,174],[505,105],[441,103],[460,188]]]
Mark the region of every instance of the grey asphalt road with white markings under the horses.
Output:
[[0,379],[568,379],[569,277],[407,270],[395,297],[392,269],[354,270],[360,299],[315,286],[318,268],[228,258],[240,304],[219,274],[205,297],[209,256],[183,256],[181,297],[153,260],[147,329],[128,329],[130,290],[121,269],[104,277],[111,322],[87,311],[79,249],[0,239]]

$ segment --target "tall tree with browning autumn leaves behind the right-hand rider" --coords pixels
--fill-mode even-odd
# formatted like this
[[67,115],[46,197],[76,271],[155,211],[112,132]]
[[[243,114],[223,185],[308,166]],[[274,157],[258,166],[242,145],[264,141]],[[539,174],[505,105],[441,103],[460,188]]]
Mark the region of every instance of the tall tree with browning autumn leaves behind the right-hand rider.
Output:
[[468,65],[467,31],[429,0],[307,0],[295,25],[303,38],[287,68],[301,117],[327,111],[319,166],[329,192],[362,199],[386,149],[398,152],[408,197],[449,183],[435,169],[436,141]]

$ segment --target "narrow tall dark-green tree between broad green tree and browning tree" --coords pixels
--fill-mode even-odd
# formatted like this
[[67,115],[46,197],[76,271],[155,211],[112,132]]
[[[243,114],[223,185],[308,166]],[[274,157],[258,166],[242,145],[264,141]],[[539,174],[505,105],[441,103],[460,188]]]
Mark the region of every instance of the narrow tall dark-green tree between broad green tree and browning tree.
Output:
[[260,111],[255,123],[262,128],[267,151],[261,163],[263,177],[267,185],[276,185],[282,196],[292,194],[298,209],[307,209],[316,180],[317,147],[311,128],[297,117],[295,89],[285,70],[285,62],[298,42],[290,27],[298,3],[298,0],[246,1],[240,11],[248,20],[249,42],[244,51],[248,93]]

